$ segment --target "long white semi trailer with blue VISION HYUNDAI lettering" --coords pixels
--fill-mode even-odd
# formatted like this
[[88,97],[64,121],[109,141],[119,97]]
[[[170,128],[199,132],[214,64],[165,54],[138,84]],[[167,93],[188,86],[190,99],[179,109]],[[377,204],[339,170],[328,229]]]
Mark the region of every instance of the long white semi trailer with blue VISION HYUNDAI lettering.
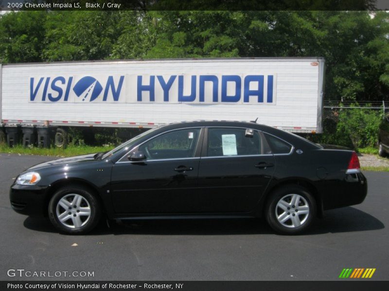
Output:
[[[252,121],[322,132],[323,58],[234,58],[0,65],[0,119],[15,127],[152,128]],[[41,130],[42,131],[42,130]]]

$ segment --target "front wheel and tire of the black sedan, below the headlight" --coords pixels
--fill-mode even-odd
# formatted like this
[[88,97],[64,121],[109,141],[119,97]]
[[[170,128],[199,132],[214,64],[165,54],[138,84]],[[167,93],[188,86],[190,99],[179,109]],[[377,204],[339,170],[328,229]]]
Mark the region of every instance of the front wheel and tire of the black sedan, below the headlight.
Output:
[[82,186],[59,189],[49,203],[50,221],[64,233],[85,234],[97,226],[100,217],[99,200]]

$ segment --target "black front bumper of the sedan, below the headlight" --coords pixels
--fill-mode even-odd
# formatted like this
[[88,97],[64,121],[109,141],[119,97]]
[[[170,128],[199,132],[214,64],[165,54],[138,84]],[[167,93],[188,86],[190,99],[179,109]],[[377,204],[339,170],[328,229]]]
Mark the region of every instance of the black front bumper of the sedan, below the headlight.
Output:
[[13,184],[9,192],[12,209],[24,215],[47,216],[46,189]]

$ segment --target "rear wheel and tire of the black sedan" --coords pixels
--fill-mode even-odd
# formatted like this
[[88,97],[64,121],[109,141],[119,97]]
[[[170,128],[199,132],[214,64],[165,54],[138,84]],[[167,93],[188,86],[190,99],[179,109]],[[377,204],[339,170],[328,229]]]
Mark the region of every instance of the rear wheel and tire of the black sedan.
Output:
[[277,189],[266,204],[266,221],[281,234],[302,233],[312,225],[315,216],[315,198],[297,185]]

